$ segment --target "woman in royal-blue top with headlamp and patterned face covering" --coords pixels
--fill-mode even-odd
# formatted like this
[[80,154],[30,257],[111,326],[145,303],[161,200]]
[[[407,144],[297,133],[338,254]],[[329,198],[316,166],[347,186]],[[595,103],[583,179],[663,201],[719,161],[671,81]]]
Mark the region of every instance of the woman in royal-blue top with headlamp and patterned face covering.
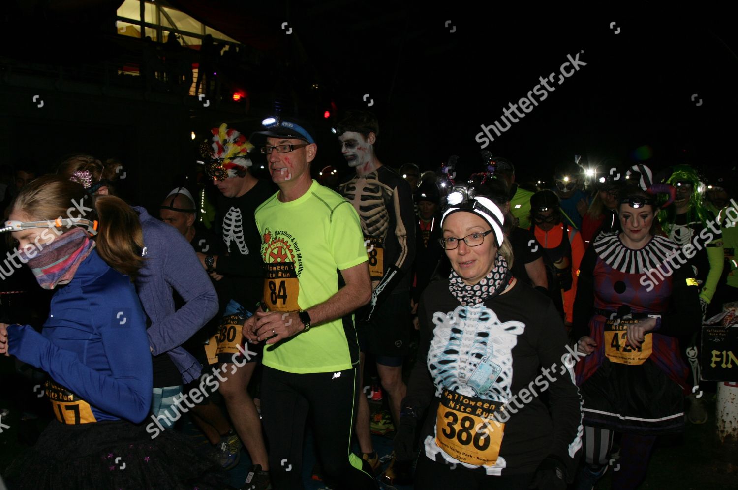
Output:
[[[99,226],[98,226],[99,220]],[[0,354],[49,373],[55,420],[7,474],[14,489],[192,488],[211,463],[172,431],[152,439],[151,352],[131,283],[142,266],[136,213],[113,196],[43,176],[24,187],[3,232],[44,289],[56,289],[41,334],[0,323]],[[92,239],[94,236],[94,240]],[[207,488],[207,486],[200,486]]]

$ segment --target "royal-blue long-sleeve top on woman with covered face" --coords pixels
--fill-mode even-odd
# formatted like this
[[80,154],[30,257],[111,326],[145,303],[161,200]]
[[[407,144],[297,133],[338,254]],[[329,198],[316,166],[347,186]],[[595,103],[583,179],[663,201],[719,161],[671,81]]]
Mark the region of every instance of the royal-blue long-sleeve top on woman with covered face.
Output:
[[55,292],[42,333],[10,325],[8,347],[61,385],[46,387],[49,398],[69,400],[63,398],[66,388],[90,405],[94,420],[83,413],[82,422],[138,423],[148,415],[153,378],[141,303],[130,279],[94,249],[72,281]]

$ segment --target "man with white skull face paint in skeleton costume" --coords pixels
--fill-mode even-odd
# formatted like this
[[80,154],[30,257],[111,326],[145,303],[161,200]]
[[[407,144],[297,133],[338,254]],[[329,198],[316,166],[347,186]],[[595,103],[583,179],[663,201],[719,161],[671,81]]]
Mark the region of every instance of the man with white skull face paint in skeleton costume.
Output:
[[[356,176],[339,186],[339,193],[354,204],[362,221],[369,254],[373,294],[369,305],[356,314],[362,376],[365,353],[375,356],[379,379],[390,397],[390,412],[399,420],[400,402],[407,387],[402,363],[410,343],[410,280],[415,258],[413,191],[398,173],[376,157],[379,124],[368,111],[348,115],[338,126],[346,162]],[[369,405],[359,397],[356,434],[362,458],[379,469],[371,444]]]

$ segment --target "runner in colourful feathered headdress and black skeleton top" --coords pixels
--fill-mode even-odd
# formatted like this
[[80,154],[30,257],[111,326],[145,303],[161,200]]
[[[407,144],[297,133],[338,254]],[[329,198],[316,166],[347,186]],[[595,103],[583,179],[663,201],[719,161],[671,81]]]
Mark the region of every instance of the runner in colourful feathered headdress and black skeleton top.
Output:
[[[263,486],[258,486],[261,489],[266,488],[268,482],[269,460],[261,434],[261,419],[254,401],[246,392],[256,362],[261,359],[261,350],[257,345],[245,343],[240,331],[244,320],[251,316],[261,300],[261,235],[256,229],[254,212],[272,195],[272,186],[249,173],[248,168],[252,164],[247,153],[251,148],[253,145],[246,137],[225,124],[213,128],[213,144],[202,148],[207,160],[205,170],[222,194],[217,208],[218,216],[222,217],[221,236],[227,252],[225,255],[199,252],[198,256],[211,277],[224,282],[218,287],[218,297],[221,308],[224,303],[227,305],[223,311],[221,331],[214,342],[218,345],[218,362],[231,364],[224,370],[228,379],[221,382],[221,394],[233,425],[254,463],[251,469],[254,478],[263,483]],[[232,364],[233,356],[238,355],[241,349],[249,356],[245,359],[246,365],[236,368],[237,365]]]

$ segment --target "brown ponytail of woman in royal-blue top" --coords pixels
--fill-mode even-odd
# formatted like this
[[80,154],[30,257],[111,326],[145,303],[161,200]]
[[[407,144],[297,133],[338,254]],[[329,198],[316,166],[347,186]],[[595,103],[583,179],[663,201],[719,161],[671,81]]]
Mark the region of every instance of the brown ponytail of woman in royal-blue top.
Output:
[[138,214],[115,196],[97,197],[94,207],[100,219],[97,253],[113,269],[136,279],[143,266],[143,232]]

